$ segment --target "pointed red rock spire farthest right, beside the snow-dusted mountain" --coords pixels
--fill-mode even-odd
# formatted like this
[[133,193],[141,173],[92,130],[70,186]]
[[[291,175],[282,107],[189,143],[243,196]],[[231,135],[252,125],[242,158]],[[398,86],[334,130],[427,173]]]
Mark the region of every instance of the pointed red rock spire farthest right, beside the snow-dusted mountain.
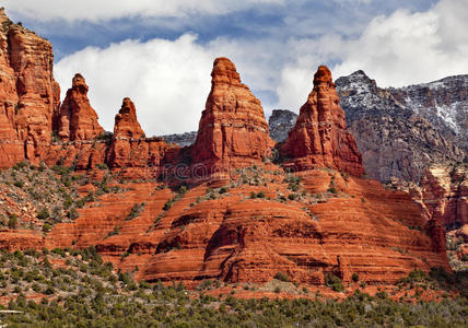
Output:
[[320,66],[315,73],[314,89],[301,107],[281,154],[286,159],[284,165],[294,171],[326,166],[356,176],[364,173],[327,67]]

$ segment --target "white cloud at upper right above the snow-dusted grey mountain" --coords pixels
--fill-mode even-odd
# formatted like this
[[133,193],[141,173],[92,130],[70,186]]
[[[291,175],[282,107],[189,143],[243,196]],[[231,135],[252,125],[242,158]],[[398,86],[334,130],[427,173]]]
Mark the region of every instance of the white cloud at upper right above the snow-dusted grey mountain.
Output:
[[442,0],[425,12],[375,17],[359,39],[343,40],[338,75],[362,69],[383,86],[468,73],[468,2]]

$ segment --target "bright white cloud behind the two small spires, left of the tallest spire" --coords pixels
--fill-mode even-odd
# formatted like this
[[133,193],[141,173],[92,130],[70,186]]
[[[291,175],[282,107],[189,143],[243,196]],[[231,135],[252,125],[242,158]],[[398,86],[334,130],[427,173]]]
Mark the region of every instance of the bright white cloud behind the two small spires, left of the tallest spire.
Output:
[[74,73],[90,86],[91,105],[112,131],[124,97],[136,104],[148,136],[197,129],[210,91],[213,54],[185,34],[175,40],[126,40],[105,49],[89,47],[60,60],[55,75],[65,92]]

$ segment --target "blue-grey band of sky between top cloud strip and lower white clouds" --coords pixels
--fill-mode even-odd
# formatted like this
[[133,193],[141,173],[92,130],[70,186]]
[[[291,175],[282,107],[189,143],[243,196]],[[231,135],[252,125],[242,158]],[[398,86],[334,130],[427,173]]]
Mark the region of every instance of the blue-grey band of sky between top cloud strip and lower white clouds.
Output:
[[[22,0],[15,2],[21,3]],[[60,1],[55,2],[60,5]],[[98,21],[86,20],[87,9],[83,9],[82,15],[69,20],[59,15],[39,20],[36,15],[25,13],[21,5],[10,10],[7,4],[7,10],[13,21],[21,21],[28,28],[47,37],[54,44],[56,60],[60,60],[87,46],[104,48],[110,43],[129,38],[142,42],[152,38],[176,39],[187,32],[197,34],[199,43],[207,43],[220,36],[280,40],[290,37],[317,37],[330,32],[352,37],[359,35],[377,15],[388,15],[403,8],[425,11],[434,3],[435,0],[285,1],[220,15],[198,13],[188,17],[142,17],[138,13],[131,16],[116,13],[113,19]],[[73,21],[70,21],[71,19]]]

